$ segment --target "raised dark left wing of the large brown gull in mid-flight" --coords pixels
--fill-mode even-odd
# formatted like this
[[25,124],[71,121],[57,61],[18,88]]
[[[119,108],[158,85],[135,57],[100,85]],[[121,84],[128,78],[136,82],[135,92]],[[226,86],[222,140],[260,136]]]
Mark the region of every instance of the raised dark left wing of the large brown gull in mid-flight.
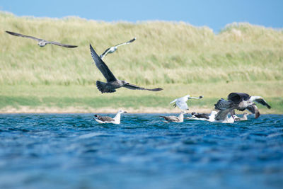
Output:
[[108,66],[103,62],[102,59],[96,54],[96,52],[93,50],[93,47],[91,47],[91,44],[89,45],[91,48],[91,56],[93,57],[94,62],[96,62],[96,67],[101,71],[107,82],[110,81],[117,81],[115,76],[112,74]]

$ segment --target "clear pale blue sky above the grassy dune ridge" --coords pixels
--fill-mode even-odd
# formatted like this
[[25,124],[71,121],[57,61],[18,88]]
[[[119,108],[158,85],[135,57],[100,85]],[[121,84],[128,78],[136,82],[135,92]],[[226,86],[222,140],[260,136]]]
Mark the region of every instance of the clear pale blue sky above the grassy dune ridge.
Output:
[[1,0],[0,11],[16,16],[98,21],[183,21],[219,32],[226,24],[248,22],[283,28],[283,0]]

